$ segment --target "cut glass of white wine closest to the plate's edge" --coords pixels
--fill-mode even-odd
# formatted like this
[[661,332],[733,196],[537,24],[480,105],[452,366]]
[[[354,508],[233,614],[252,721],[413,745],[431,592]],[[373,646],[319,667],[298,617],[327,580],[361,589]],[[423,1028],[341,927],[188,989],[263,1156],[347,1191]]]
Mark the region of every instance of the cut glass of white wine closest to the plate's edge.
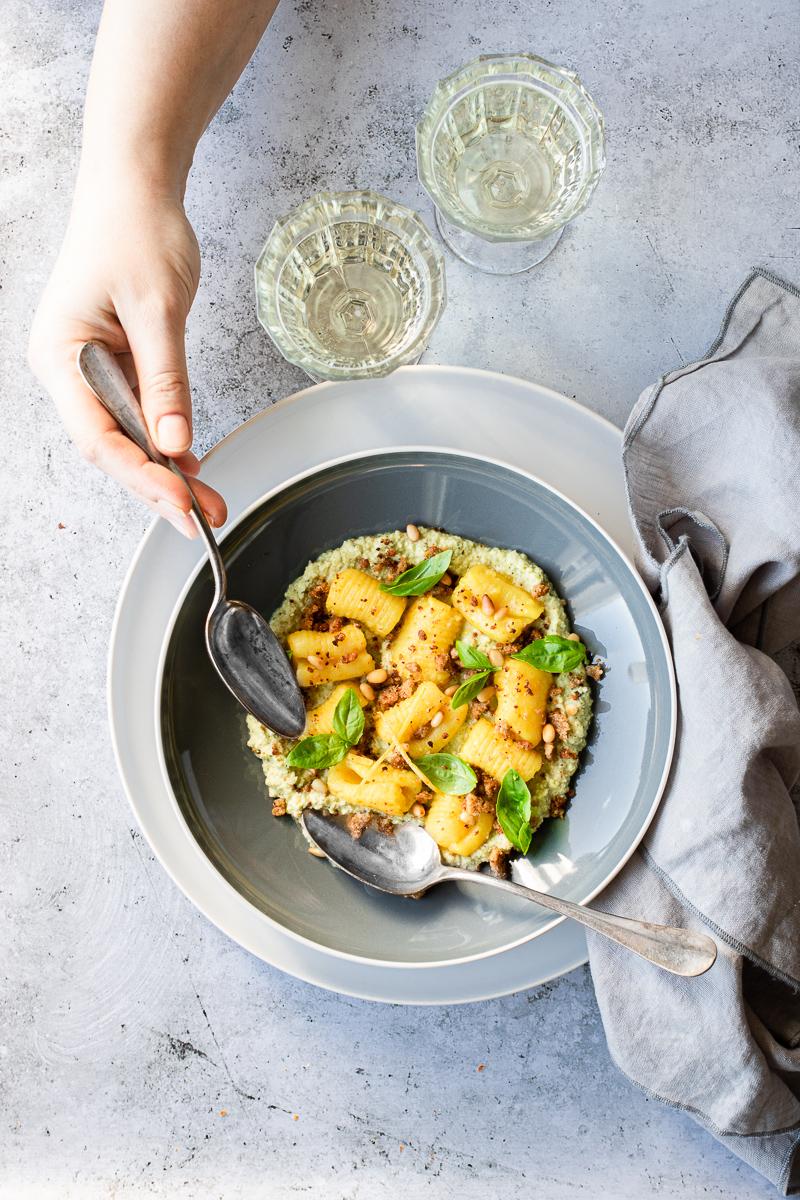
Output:
[[276,221],[255,263],[258,317],[312,379],[416,362],[445,305],[421,218],[375,192],[319,192]]

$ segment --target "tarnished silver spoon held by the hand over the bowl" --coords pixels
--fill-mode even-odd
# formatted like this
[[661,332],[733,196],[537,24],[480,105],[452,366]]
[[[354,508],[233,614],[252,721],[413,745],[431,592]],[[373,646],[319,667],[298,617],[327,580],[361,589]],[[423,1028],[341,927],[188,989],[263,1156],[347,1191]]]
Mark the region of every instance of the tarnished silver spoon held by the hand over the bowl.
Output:
[[261,725],[283,737],[299,737],[306,727],[306,707],[291,665],[264,617],[241,600],[227,599],[224,563],[205,514],[184,473],[152,444],[142,408],[115,355],[100,342],[86,342],[78,352],[78,370],[103,408],[139,449],[161,467],[168,467],[190,488],[192,515],[213,575],[205,642],[219,678]]

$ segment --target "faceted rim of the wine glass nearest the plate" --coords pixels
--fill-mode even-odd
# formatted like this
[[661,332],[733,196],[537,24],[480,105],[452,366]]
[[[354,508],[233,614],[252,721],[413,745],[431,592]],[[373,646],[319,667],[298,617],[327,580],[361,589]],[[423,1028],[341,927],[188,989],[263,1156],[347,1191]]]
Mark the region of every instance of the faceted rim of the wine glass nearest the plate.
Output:
[[[311,354],[303,354],[302,347],[294,337],[289,334],[281,308],[275,299],[276,289],[279,283],[279,274],[272,275],[270,278],[269,289],[264,289],[264,298],[259,293],[259,275],[263,272],[261,260],[266,258],[267,247],[272,240],[281,234],[285,234],[287,227],[291,221],[296,220],[306,209],[313,208],[315,204],[330,204],[333,200],[347,200],[353,205],[359,205],[366,209],[367,202],[378,200],[387,206],[391,212],[393,212],[398,221],[408,222],[409,226],[414,228],[414,247],[411,253],[419,263],[421,263],[426,282],[429,292],[429,305],[428,312],[425,319],[417,326],[417,330],[411,338],[411,341],[405,346],[403,352],[390,361],[384,361],[378,370],[374,366],[365,367],[361,372],[353,373],[351,367],[342,367],[326,370],[324,373],[320,368],[319,358],[313,358]],[[357,217],[344,217],[339,216],[332,223],[347,223],[347,221],[355,221]],[[391,228],[389,221],[385,217],[380,220],[373,220],[373,224],[381,229],[386,229],[390,233],[396,233]],[[296,244],[299,239],[295,236],[291,239],[291,245]],[[321,188],[314,192],[313,196],[306,197],[300,204],[295,204],[293,209],[288,212],[282,214],[276,217],[272,228],[270,229],[264,245],[261,246],[258,257],[253,264],[253,283],[255,289],[255,316],[258,323],[275,344],[278,353],[287,360],[291,362],[293,366],[297,366],[301,371],[311,374],[312,368],[315,372],[311,374],[311,378],[315,382],[323,383],[344,383],[349,379],[383,379],[392,371],[397,371],[402,366],[408,366],[416,362],[431,341],[433,332],[441,319],[441,314],[447,307],[447,274],[445,266],[445,257],[439,248],[439,245],[431,232],[428,226],[422,218],[422,215],[417,212],[416,209],[410,208],[408,204],[402,204],[399,200],[393,200],[391,196],[385,196],[383,192],[374,192],[367,187],[350,188],[349,191],[335,192],[330,188]],[[270,317],[275,318],[275,330],[270,329],[267,325],[267,319]]]

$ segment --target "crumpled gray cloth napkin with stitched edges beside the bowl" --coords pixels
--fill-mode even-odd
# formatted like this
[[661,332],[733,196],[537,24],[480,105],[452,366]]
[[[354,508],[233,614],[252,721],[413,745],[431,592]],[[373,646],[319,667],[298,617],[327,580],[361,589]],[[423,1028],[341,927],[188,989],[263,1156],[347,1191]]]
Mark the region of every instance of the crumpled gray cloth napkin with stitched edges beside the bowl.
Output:
[[800,292],[754,271],[705,358],[642,395],[624,463],[679,731],[658,814],[597,907],[705,930],[720,953],[679,979],[590,934],[597,1002],[634,1084],[795,1195],[800,713],[768,654],[800,637]]

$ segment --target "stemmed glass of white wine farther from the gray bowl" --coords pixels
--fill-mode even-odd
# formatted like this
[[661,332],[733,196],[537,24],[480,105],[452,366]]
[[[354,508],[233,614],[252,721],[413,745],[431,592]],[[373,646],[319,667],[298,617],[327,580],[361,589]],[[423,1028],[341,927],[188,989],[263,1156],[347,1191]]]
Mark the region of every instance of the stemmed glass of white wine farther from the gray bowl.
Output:
[[575,72],[535,54],[483,54],[437,85],[416,160],[450,250],[513,275],[541,263],[589,203],[603,119]]

